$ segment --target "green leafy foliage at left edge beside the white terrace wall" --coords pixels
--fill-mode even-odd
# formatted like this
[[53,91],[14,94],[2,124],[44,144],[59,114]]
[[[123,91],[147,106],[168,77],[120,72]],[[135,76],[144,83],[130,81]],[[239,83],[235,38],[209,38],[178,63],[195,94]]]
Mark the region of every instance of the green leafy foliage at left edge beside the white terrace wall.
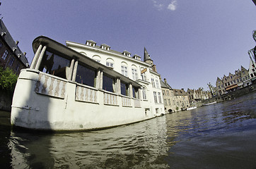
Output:
[[7,92],[13,92],[17,79],[18,75],[13,73],[13,70],[0,67],[0,89],[6,90]]

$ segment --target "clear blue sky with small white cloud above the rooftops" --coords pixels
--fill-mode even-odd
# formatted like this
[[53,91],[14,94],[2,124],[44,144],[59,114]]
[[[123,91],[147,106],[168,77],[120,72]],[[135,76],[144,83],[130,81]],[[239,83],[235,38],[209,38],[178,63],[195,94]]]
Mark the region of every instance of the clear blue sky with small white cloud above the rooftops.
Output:
[[45,35],[65,44],[93,39],[115,51],[151,55],[175,89],[208,89],[216,77],[249,66],[256,45],[251,0],[1,1],[1,17],[28,60]]

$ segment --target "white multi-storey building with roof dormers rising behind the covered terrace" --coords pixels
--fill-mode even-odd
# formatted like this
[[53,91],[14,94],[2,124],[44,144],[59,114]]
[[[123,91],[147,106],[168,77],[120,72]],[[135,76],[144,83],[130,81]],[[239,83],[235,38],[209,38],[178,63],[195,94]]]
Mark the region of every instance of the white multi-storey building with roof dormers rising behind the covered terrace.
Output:
[[[127,85],[122,81],[117,84],[118,80],[114,80],[115,84],[112,85],[120,85],[122,95],[136,96],[136,99],[140,99],[141,106],[145,108],[145,113],[155,115],[165,113],[160,75],[156,72],[156,65],[153,65],[146,49],[144,49],[144,61],[141,61],[139,55],[131,56],[129,51],[123,51],[122,53],[114,51],[107,44],[98,46],[93,40],[86,41],[86,44],[66,41],[66,46],[141,84],[142,87],[139,91],[136,91],[131,84]],[[117,91],[114,88],[110,87],[110,89],[106,88],[105,90],[116,93]]]

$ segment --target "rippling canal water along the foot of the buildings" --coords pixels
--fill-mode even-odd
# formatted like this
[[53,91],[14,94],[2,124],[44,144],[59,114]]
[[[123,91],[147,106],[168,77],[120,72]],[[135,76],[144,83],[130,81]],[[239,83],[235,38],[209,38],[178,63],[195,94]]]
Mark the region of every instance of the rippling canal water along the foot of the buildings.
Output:
[[91,132],[11,131],[9,114],[1,168],[256,168],[256,92]]

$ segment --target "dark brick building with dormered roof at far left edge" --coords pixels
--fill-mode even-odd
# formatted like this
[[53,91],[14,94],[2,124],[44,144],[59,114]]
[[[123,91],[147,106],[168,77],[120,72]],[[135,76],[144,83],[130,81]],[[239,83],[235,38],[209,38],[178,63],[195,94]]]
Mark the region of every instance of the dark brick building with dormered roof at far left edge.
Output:
[[21,69],[28,68],[28,59],[25,53],[18,47],[18,41],[14,41],[0,19],[0,66],[2,68],[10,68],[17,75]]

